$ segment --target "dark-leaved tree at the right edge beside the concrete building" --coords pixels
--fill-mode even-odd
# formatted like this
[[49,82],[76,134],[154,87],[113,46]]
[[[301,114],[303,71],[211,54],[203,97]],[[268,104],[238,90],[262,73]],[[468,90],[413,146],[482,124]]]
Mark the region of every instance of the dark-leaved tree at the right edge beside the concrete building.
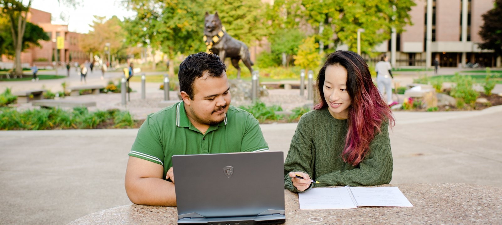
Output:
[[482,15],[483,25],[479,35],[483,43],[479,44],[482,49],[493,49],[495,54],[502,56],[502,0],[495,0],[492,9]]

